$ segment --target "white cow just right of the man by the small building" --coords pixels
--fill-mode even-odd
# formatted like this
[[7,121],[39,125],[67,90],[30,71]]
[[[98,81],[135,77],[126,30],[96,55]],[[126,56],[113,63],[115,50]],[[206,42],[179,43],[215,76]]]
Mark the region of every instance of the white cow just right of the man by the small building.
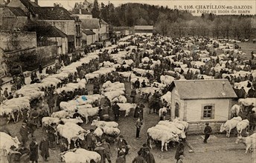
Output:
[[221,124],[220,126],[220,133],[224,130],[227,132],[226,136],[230,136],[230,132],[234,127],[237,127],[237,124],[242,121],[240,116],[234,117],[233,119],[228,120],[225,124]]

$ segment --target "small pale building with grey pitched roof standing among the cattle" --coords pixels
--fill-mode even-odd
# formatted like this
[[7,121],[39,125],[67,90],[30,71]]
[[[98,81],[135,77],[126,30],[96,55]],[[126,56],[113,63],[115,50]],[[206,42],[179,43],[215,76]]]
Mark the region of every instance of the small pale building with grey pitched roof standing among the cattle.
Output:
[[176,80],[169,91],[171,119],[188,122],[191,133],[202,133],[205,122],[220,130],[220,123],[231,118],[232,102],[237,98],[228,79]]

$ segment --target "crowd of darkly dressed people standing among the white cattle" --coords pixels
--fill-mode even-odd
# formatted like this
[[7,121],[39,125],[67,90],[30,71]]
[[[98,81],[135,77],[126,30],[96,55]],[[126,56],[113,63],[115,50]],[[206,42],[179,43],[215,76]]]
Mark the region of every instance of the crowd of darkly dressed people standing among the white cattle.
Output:
[[[214,44],[215,47],[219,47],[218,43],[213,43],[210,39],[191,39],[191,41],[193,41],[193,43],[196,44],[197,47],[193,47],[192,45],[186,47],[185,41],[183,41],[182,39],[177,39],[179,44],[176,45],[169,44],[170,41],[160,41],[162,38],[157,36],[147,38],[149,42],[153,41],[153,44],[147,44],[147,41],[145,42],[144,39],[144,37],[138,36],[135,40],[132,38],[129,39],[129,45],[124,44],[121,45],[119,48],[116,47],[110,51],[100,50],[99,59],[92,59],[91,61],[89,61],[89,63],[82,64],[81,66],[77,67],[77,72],[69,73],[68,78],[61,80],[61,82],[57,84],[57,87],[55,87],[54,85],[51,85],[50,87],[42,87],[41,90],[45,93],[43,99],[48,104],[48,108],[39,104],[35,104],[30,111],[22,110],[23,123],[22,127],[19,130],[19,133],[22,137],[22,146],[20,149],[14,149],[12,147],[12,154],[16,155],[17,153],[15,151],[18,151],[22,154],[27,153],[30,156],[31,162],[38,162],[38,150],[40,150],[42,158],[44,159],[44,161],[47,161],[48,157],[50,156],[49,149],[54,149],[57,147],[57,136],[55,136],[56,130],[54,130],[54,126],[49,125],[48,127],[44,128],[46,136],[44,136],[42,142],[40,142],[39,144],[36,142],[36,137],[34,133],[39,127],[42,127],[42,118],[45,116],[50,116],[52,113],[54,113],[54,111],[60,110],[60,102],[68,102],[69,100],[75,99],[76,96],[89,94],[89,90],[86,87],[77,88],[74,89],[74,91],[67,92],[63,90],[61,93],[57,93],[56,90],[65,86],[65,84],[77,83],[77,80],[86,79],[86,74],[93,73],[96,70],[99,70],[100,67],[104,67],[103,61],[110,61],[116,64],[117,61],[111,58],[111,54],[118,54],[118,52],[125,50],[129,52],[129,50],[131,50],[129,49],[129,46],[133,46],[134,49],[131,50],[132,53],[129,53],[129,55],[127,55],[125,59],[132,59],[132,64],[130,64],[129,66],[125,66],[127,65],[127,63],[126,61],[124,61],[120,66],[116,68],[114,72],[107,73],[105,76],[100,76],[99,78],[95,77],[88,82],[93,84],[93,94],[100,94],[101,84],[106,81],[130,82],[130,77],[126,79],[120,72],[130,72],[133,70],[133,68],[153,70],[153,74],[135,74],[136,76],[148,79],[149,82],[146,82],[145,79],[143,80],[143,82],[140,82],[139,79],[137,79],[134,83],[132,83],[131,92],[126,93],[126,96],[128,97],[127,99],[130,98],[131,103],[137,103],[134,112],[134,118],[137,119],[137,121],[135,122],[135,138],[137,139],[140,139],[141,127],[144,125],[145,105],[148,106],[149,113],[153,112],[158,114],[160,120],[164,120],[165,116],[167,115],[167,110],[163,110],[161,108],[164,107],[170,109],[168,102],[161,100],[161,96],[166,93],[166,88],[168,87],[168,85],[159,90],[154,90],[152,93],[138,93],[138,90],[144,87],[152,86],[159,88],[161,84],[161,76],[163,75],[170,74],[170,76],[173,76],[173,78],[176,80],[191,80],[204,79],[204,76],[211,76],[214,79],[221,79],[223,78],[224,74],[230,74],[230,76],[226,76],[225,78],[228,79],[229,82],[231,82],[231,84],[233,85],[237,82],[249,81],[246,86],[249,88],[248,93],[246,93],[244,87],[234,87],[234,91],[235,93],[237,93],[238,98],[255,97],[256,79],[252,76],[252,73],[248,73],[244,76],[240,74],[238,76],[232,75],[234,71],[243,70],[246,72],[250,72],[252,70],[251,59],[249,59],[249,61],[246,61],[245,59],[242,59],[240,55],[234,53],[234,51],[228,51],[225,54],[225,59],[220,59],[220,57],[217,56],[216,51],[211,50],[211,48],[207,46],[207,44],[211,43]],[[141,43],[143,44],[141,45]],[[144,50],[141,50],[141,48],[143,48]],[[227,49],[228,48],[229,47],[227,47]],[[150,50],[153,50],[153,53],[151,53]],[[186,53],[185,50],[191,50],[191,53]],[[200,66],[193,64],[193,61],[201,61],[199,50],[206,50],[208,52],[208,58],[210,58],[207,61],[202,61],[203,64]],[[85,55],[92,51],[95,51],[95,49],[86,47],[84,50]],[[167,56],[173,56],[173,58],[170,59]],[[48,75],[57,73],[58,70],[61,69],[61,67],[71,64],[71,62],[79,61],[82,57],[83,55],[81,55],[80,53],[74,53],[71,56],[71,59],[68,55],[60,56],[55,66],[49,68],[47,67],[45,73]],[[149,61],[143,61],[143,59],[146,57],[149,59]],[[226,61],[225,63],[223,62],[224,60]],[[160,64],[156,64],[156,61],[160,61]],[[177,62],[181,64],[176,64]],[[187,65],[186,70],[182,69],[182,64]],[[225,64],[225,67],[217,70],[216,67],[219,67],[219,65],[221,64]],[[239,65],[243,65],[243,68]],[[194,71],[194,69],[196,69],[196,71]],[[39,74],[40,73],[42,73],[42,65],[39,65]],[[31,73],[31,84],[40,82],[40,80],[42,79],[38,78],[36,71]],[[17,76],[15,79],[13,78],[13,85],[15,85],[14,87],[16,87],[15,90],[19,90],[22,85],[25,85],[25,76],[21,75]],[[14,97],[11,91],[9,93],[6,89],[3,91],[3,96],[0,96],[0,102],[4,102],[4,99],[13,98]],[[102,112],[108,110],[107,114],[112,115],[113,119],[116,122],[119,121],[120,107],[118,106],[117,102],[114,102],[112,104],[109,99],[104,98],[100,100],[100,102],[95,102],[95,104],[93,104],[93,107],[100,107],[99,113],[97,115],[99,117],[98,119],[105,120]],[[250,110],[250,108],[251,107],[248,107],[247,110]],[[80,116],[79,113],[75,113],[73,118],[76,118],[77,116]],[[249,119],[250,124],[252,124],[251,129],[255,130],[256,113],[254,111],[248,112],[248,115],[246,116]],[[206,125],[207,127],[205,127],[205,143],[207,142],[207,139],[211,134],[211,129],[209,128],[208,124]],[[97,139],[94,131],[95,130],[90,129],[84,141],[80,140],[76,142],[77,147],[82,147],[86,150],[96,151],[100,154],[102,162],[106,162],[106,160],[108,162],[112,162],[111,160],[113,160],[113,158],[111,157],[112,155],[110,153],[112,148],[112,145],[110,144],[112,142],[112,138],[109,138],[108,136],[102,136],[101,139]],[[5,132],[7,131],[5,130]],[[10,134],[10,132],[7,133]],[[30,139],[31,143],[28,146],[27,143]],[[60,153],[65,153],[65,151],[67,150],[67,142],[65,140],[62,140],[60,142]],[[130,147],[128,142],[124,139],[124,136],[118,137],[117,150],[118,158],[116,159],[116,162],[126,162],[126,156],[127,154],[129,154]],[[10,157],[10,159],[13,159],[13,157]],[[181,163],[184,159],[184,144],[182,143],[182,141],[179,141],[175,159],[179,163]],[[60,159],[60,161],[62,160]],[[151,149],[147,143],[143,144],[143,147],[138,150],[138,156],[136,156],[132,160],[132,162],[156,162],[153,153],[151,153]]]

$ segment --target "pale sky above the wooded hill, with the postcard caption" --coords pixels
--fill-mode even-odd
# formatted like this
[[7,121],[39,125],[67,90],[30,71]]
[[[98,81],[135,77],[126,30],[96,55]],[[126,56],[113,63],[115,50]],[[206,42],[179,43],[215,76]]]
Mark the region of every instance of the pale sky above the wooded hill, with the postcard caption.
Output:
[[[33,1],[33,0],[31,0]],[[93,3],[93,0],[87,0]],[[256,0],[109,0],[117,7],[125,3],[142,3],[159,6],[168,6],[170,9],[189,10],[194,16],[200,16],[202,13],[222,14],[256,14]],[[98,0],[98,3],[108,4],[108,0]],[[70,10],[79,0],[39,0],[41,7],[54,6],[54,3],[61,3],[63,7]],[[83,2],[83,1],[81,1]]]

